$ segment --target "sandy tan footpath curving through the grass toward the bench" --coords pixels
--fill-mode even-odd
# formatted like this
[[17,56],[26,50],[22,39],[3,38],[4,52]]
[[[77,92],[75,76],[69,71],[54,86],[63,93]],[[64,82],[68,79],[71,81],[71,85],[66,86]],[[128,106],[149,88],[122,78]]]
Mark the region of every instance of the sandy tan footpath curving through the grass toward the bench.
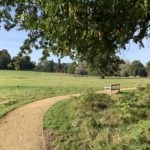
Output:
[[72,96],[80,94],[35,101],[8,113],[0,120],[0,150],[45,150],[42,133],[43,114],[54,103]]

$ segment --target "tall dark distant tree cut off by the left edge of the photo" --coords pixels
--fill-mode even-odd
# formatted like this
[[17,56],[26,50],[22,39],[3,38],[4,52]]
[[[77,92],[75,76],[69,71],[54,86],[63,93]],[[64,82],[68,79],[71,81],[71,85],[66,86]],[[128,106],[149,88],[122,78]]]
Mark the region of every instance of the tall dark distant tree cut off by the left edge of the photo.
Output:
[[8,69],[11,62],[11,56],[6,49],[0,51],[0,69]]

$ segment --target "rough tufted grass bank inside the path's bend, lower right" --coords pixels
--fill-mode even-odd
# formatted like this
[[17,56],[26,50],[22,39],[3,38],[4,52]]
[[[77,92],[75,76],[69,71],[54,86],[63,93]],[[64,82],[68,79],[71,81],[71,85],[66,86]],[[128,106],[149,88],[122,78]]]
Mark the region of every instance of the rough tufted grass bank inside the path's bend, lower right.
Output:
[[87,92],[58,102],[43,127],[56,150],[149,150],[150,85],[113,99]]

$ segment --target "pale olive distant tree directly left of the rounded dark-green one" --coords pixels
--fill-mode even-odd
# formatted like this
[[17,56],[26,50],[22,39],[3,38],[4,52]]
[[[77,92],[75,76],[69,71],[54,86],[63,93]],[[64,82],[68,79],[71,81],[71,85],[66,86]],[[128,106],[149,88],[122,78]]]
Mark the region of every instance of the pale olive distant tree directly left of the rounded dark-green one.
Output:
[[128,77],[129,76],[129,67],[131,63],[129,61],[124,61],[124,63],[120,64],[120,76]]

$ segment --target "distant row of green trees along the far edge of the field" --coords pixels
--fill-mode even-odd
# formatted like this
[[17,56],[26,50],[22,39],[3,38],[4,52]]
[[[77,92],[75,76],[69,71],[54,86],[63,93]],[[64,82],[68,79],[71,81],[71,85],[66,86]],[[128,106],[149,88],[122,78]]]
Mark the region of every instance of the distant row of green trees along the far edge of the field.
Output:
[[36,64],[31,61],[30,56],[13,57],[11,58],[7,50],[0,51],[0,69],[6,70],[34,70],[41,72],[61,72],[74,75],[100,75],[104,76],[149,76],[150,75],[150,61],[144,66],[139,60],[133,62],[120,61],[121,63],[113,64],[108,70],[107,75],[98,73],[97,69],[91,69],[85,62],[78,63],[61,63],[53,60],[45,60]]

